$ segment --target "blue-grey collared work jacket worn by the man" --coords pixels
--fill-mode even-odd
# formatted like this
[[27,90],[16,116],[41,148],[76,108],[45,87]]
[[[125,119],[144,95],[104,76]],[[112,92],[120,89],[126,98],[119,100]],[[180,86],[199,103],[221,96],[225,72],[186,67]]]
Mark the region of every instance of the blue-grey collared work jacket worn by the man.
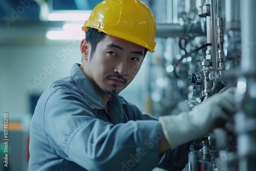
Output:
[[38,100],[30,124],[29,170],[184,166],[188,145],[159,156],[163,133],[157,118],[118,95],[106,111],[79,66],[75,63],[71,76],[54,81]]

